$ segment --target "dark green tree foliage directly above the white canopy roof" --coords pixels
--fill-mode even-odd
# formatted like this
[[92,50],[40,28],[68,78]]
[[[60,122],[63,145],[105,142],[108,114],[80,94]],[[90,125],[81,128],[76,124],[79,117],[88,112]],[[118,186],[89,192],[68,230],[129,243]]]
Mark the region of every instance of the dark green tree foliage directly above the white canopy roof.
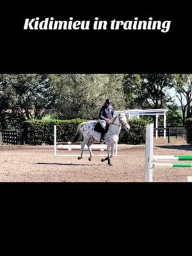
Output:
[[129,74],[124,76],[124,93],[129,108],[164,108],[172,98],[166,89],[173,87],[172,74]]

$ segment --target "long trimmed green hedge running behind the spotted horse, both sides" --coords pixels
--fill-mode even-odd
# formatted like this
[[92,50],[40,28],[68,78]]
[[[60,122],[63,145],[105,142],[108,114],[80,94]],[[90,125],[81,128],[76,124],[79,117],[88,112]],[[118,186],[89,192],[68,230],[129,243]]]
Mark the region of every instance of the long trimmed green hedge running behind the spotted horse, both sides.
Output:
[[[24,141],[29,145],[53,145],[54,125],[57,125],[57,141],[71,141],[74,138],[77,126],[82,119],[72,120],[29,120],[24,123]],[[118,143],[143,144],[147,121],[142,119],[128,120],[131,129],[129,132],[122,130]]]

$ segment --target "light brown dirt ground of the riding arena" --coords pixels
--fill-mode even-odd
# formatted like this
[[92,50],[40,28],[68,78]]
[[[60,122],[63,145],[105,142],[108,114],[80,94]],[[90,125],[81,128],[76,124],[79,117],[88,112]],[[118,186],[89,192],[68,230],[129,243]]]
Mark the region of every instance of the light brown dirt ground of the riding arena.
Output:
[[[102,156],[88,161],[88,152],[81,160],[77,160],[79,151],[62,151],[61,154],[67,156],[53,156],[53,146],[0,145],[0,181],[143,182],[144,179],[145,145],[119,145],[118,156],[112,159],[113,166],[102,163]],[[192,155],[192,146],[181,138],[171,138],[170,144],[158,138],[154,139],[154,155]],[[154,168],[156,182],[186,182],[189,175],[192,175],[191,168]]]

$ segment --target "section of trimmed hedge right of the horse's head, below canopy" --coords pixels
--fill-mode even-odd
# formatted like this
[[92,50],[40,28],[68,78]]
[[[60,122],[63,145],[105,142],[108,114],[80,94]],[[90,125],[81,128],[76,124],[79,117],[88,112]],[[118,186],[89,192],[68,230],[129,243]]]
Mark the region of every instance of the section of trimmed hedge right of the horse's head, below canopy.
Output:
[[118,143],[122,144],[144,144],[145,143],[145,133],[146,133],[146,125],[149,124],[147,120],[143,119],[133,119],[127,120],[131,129],[129,132],[122,130],[120,132]]

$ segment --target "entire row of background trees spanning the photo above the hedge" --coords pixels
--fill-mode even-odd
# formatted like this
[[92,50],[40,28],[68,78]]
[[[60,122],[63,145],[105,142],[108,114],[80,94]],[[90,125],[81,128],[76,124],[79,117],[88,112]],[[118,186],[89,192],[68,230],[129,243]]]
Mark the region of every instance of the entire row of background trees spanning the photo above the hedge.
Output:
[[[192,116],[189,74],[0,74],[0,129],[31,119],[95,119],[105,99],[115,110],[168,108],[168,125]],[[180,111],[169,95],[175,88]],[[186,102],[185,102],[186,101]],[[160,120],[161,124],[161,120]]]

